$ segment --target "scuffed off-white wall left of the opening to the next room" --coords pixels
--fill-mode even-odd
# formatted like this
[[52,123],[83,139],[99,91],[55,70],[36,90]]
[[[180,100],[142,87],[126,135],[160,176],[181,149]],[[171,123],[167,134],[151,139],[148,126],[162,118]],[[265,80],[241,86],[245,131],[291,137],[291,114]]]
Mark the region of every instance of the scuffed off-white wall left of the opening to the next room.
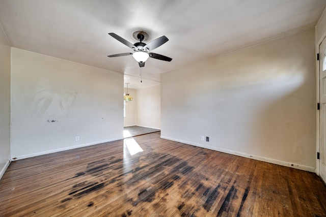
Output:
[[11,58],[12,158],[123,138],[122,74],[17,48]]

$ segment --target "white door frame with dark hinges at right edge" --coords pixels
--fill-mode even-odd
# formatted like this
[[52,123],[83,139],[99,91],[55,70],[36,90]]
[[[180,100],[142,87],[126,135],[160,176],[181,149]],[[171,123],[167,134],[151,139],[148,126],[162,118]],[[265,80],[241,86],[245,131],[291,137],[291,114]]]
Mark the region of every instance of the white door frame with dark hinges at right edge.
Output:
[[[315,37],[316,37],[316,28],[315,28]],[[317,60],[317,53],[320,53],[319,50],[319,46],[321,44],[321,42],[326,38],[326,31],[322,34],[322,37],[320,37],[320,39],[315,39],[316,41],[318,40],[318,42],[315,44],[316,48],[316,171],[315,173],[319,176],[319,161],[317,159],[317,152],[320,153],[320,110],[317,110],[317,103],[320,103],[319,97],[320,97],[320,85],[319,85],[319,62],[322,60]]]

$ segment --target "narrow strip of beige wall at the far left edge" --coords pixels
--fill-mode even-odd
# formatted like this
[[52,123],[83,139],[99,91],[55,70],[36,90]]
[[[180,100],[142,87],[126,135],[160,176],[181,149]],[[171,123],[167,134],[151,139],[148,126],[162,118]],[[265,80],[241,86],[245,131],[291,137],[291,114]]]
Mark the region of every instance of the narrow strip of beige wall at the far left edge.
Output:
[[0,178],[10,160],[10,49],[0,25]]

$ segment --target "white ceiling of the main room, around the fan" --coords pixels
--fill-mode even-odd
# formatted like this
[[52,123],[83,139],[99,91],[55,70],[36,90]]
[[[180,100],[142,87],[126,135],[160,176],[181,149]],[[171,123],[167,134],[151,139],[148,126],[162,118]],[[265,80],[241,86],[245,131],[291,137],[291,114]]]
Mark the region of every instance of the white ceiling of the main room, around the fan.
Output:
[[108,33],[132,44],[137,30],[148,33],[145,43],[165,35],[153,52],[173,60],[149,58],[142,68],[144,79],[159,82],[161,73],[312,27],[325,7],[325,0],[0,0],[0,22],[13,47],[133,78],[140,68],[132,56],[107,57],[132,50]]

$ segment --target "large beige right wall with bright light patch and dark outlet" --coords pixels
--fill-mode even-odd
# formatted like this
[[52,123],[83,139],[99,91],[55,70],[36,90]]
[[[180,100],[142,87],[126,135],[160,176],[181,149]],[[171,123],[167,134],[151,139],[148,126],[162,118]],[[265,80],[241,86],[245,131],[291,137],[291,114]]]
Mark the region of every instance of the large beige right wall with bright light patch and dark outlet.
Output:
[[312,28],[162,74],[161,137],[315,171],[314,39]]

